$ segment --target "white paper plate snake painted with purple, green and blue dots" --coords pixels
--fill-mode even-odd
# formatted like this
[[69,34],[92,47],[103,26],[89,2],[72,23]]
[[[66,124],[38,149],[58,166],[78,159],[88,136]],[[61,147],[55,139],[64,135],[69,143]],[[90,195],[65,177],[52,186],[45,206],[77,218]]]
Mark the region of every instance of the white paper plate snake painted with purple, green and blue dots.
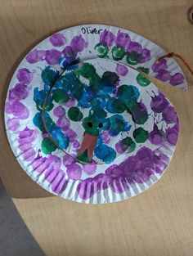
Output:
[[5,107],[7,137],[25,173],[55,195],[92,204],[154,184],[179,126],[171,102],[138,70],[186,89],[176,61],[156,62],[165,53],[106,25],[65,29],[34,47],[11,79]]

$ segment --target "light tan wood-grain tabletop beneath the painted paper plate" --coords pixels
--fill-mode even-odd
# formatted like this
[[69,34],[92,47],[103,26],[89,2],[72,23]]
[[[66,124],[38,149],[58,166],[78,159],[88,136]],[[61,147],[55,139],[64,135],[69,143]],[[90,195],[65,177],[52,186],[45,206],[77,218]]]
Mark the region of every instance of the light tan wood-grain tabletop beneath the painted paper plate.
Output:
[[130,29],[177,52],[193,66],[192,0],[0,0],[1,172],[16,208],[49,256],[193,255],[193,77],[188,92],[156,83],[173,102],[181,132],[164,177],[145,193],[116,204],[61,200],[17,164],[3,124],[7,87],[16,66],[47,35],[73,25]]

